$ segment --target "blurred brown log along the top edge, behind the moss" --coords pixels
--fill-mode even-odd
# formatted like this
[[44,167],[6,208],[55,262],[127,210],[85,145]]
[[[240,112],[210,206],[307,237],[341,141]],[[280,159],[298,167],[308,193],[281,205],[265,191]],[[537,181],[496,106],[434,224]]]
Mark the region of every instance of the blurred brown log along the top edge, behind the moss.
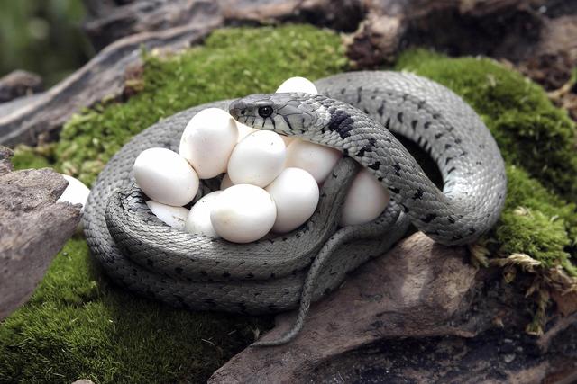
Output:
[[354,31],[362,20],[361,0],[155,0],[118,2],[85,0],[83,28],[96,49],[142,31],[197,25],[215,14],[225,25],[309,22],[338,31]]

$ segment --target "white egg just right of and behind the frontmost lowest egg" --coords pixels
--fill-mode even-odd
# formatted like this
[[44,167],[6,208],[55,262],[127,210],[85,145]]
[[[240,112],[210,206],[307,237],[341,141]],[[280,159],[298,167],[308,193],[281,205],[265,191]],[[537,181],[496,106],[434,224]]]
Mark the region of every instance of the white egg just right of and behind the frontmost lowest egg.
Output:
[[277,206],[277,219],[272,230],[286,233],[298,228],[316,210],[318,184],[300,168],[287,168],[266,187]]

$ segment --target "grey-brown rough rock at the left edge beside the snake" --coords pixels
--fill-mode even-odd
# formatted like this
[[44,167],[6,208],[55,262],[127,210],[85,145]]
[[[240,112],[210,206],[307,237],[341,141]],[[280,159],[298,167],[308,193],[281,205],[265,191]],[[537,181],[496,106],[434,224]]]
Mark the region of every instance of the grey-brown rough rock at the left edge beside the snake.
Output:
[[11,171],[0,147],[0,320],[21,306],[80,221],[79,205],[56,203],[68,182],[50,169]]

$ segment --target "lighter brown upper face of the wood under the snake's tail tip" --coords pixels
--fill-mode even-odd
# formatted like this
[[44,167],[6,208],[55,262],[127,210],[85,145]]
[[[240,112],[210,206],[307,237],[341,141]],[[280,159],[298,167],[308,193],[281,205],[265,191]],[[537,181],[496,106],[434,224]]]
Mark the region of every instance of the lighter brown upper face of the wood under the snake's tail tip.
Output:
[[[311,307],[289,344],[247,348],[209,382],[301,382],[324,362],[382,338],[474,335],[450,326],[475,281],[463,247],[436,245],[417,233],[389,254],[364,264],[340,290]],[[294,313],[277,317],[263,340],[282,335]],[[258,379],[255,378],[258,372]]]

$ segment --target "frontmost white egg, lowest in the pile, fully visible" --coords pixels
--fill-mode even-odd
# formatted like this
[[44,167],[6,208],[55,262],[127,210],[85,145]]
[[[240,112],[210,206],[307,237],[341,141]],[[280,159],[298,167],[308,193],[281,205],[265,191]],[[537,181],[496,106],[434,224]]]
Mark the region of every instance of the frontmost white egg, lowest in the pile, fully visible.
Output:
[[265,236],[274,225],[277,208],[269,192],[250,184],[233,185],[216,197],[210,221],[220,237],[250,243]]

